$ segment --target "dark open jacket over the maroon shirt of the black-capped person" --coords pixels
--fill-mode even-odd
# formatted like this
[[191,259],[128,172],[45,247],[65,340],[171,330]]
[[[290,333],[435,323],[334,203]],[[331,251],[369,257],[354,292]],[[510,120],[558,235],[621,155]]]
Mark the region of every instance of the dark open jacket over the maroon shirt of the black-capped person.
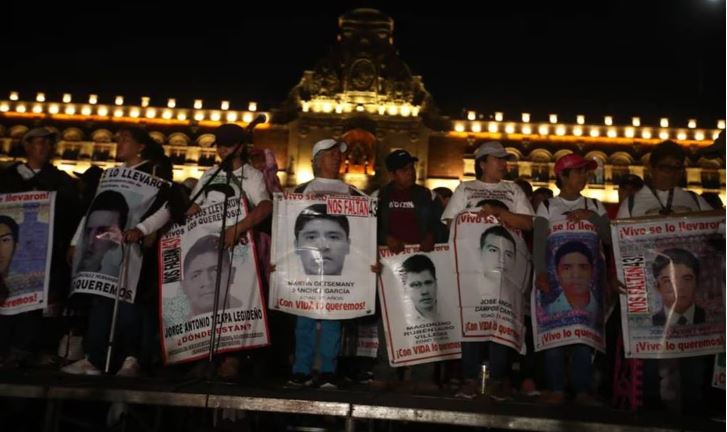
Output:
[[[394,188],[393,183],[389,183],[379,191],[379,209],[376,215],[377,222],[377,240],[380,245],[386,244],[386,236],[393,235],[396,237],[396,228],[389,225],[389,202],[391,200],[391,192]],[[414,212],[417,219],[417,227],[419,228],[420,237],[423,239],[427,233],[434,235],[435,242],[447,241],[447,239],[437,238],[437,215],[432,201],[432,193],[429,189],[414,185],[412,186],[412,201],[414,202]]]

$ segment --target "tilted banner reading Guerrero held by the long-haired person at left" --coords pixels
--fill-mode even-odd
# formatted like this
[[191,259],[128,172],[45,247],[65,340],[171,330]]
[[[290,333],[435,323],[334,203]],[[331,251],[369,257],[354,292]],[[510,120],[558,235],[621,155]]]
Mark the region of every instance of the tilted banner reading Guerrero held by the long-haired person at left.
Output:
[[128,278],[119,299],[133,303],[141,271],[138,244],[124,244],[122,234],[133,228],[169,182],[142,171],[118,167],[103,172],[96,196],[83,219],[81,239],[73,259],[71,294],[85,293],[116,298],[116,289],[127,251]]

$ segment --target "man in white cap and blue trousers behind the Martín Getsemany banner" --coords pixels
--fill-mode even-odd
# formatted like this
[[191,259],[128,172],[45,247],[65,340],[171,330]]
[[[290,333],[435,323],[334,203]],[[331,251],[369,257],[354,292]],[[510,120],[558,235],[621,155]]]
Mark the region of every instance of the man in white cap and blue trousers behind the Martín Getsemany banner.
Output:
[[[343,154],[348,146],[334,139],[322,139],[313,145],[311,165],[313,180],[295,188],[296,193],[312,195],[364,195],[354,186],[341,181],[339,170]],[[373,257],[372,257],[373,258]],[[311,372],[316,357],[316,327],[320,324],[320,343],[318,354],[321,359],[320,375],[315,383],[320,388],[336,388],[335,373],[338,352],[341,347],[340,320],[314,320],[296,317],[295,359],[293,374],[288,380],[289,387],[308,387],[314,384]]]

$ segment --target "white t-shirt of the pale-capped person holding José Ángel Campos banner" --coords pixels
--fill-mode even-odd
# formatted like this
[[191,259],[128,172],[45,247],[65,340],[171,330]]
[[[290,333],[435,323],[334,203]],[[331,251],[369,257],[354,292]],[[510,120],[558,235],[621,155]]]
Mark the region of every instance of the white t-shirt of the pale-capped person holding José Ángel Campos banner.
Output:
[[454,219],[467,209],[480,207],[482,200],[498,200],[507,206],[512,213],[533,215],[533,207],[520,186],[507,180],[499,183],[485,183],[480,180],[462,182],[454,190],[447,208],[442,213],[442,220]]

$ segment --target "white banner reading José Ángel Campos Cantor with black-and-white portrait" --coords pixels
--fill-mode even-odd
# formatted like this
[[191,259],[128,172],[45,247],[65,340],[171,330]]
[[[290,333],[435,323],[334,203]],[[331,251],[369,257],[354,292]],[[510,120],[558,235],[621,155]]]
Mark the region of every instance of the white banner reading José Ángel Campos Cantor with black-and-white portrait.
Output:
[[493,341],[525,352],[523,303],[530,252],[519,230],[465,211],[450,230],[463,342]]

